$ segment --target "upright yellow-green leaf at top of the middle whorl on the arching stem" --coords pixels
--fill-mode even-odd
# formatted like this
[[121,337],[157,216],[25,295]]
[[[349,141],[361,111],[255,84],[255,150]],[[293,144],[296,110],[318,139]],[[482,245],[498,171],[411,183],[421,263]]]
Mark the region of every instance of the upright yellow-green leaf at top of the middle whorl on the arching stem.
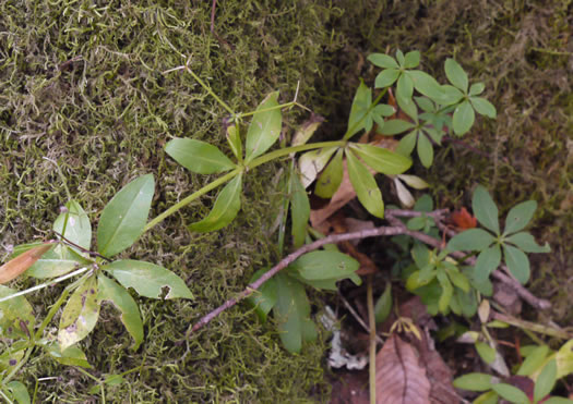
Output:
[[[259,105],[256,111],[277,107],[278,91],[271,93]],[[279,109],[271,111],[255,112],[249,130],[247,131],[246,144],[246,161],[249,162],[258,156],[268,150],[271,146],[278,139],[280,135],[280,127],[283,124],[283,115]]]

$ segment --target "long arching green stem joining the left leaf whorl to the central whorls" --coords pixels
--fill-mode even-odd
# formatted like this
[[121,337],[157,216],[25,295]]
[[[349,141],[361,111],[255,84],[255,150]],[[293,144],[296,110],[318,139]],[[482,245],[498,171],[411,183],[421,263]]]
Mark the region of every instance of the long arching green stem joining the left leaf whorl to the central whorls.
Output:
[[[228,172],[227,174],[219,176],[217,180],[213,181],[208,185],[205,185],[201,189],[194,192],[193,194],[189,195],[184,199],[180,200],[179,203],[171,206],[169,209],[162,212],[159,216],[155,217],[153,220],[151,220],[145,228],[143,228],[143,232],[148,231],[150,229],[154,228],[155,225],[159,224],[162,221],[164,221],[169,216],[176,213],[179,211],[179,209],[183,208],[184,206],[191,204],[196,198],[205,195],[207,192],[215,189],[217,186],[220,186],[230,180],[232,180],[235,176],[243,172],[244,170],[251,170],[255,167],[259,167],[261,164],[264,164],[265,162],[278,159],[280,157],[288,156],[293,152],[297,151],[306,151],[306,150],[312,150],[318,149],[321,147],[335,147],[339,146],[343,147],[346,145],[346,142],[344,140],[336,140],[336,142],[320,142],[320,143],[312,143],[310,145],[300,145],[300,146],[293,146],[287,147],[284,149],[274,150],[271,152],[267,152],[266,155],[260,156],[255,158],[254,160],[247,162],[243,167],[238,167],[235,170]],[[1,302],[1,301],[0,301]]]

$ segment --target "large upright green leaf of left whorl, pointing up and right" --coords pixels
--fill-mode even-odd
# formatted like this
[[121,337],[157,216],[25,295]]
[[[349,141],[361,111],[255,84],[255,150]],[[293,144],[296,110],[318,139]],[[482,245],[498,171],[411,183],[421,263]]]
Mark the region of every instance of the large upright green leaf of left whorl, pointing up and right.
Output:
[[111,257],[131,246],[143,233],[155,181],[152,174],[130,182],[106,205],[97,228],[97,252]]

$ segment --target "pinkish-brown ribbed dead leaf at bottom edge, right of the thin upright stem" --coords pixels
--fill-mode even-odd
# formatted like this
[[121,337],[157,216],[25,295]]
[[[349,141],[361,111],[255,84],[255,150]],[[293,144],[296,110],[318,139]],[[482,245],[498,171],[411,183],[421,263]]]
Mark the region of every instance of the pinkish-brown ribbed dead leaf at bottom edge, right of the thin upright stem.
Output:
[[377,355],[377,404],[430,403],[430,381],[414,348],[392,334]]

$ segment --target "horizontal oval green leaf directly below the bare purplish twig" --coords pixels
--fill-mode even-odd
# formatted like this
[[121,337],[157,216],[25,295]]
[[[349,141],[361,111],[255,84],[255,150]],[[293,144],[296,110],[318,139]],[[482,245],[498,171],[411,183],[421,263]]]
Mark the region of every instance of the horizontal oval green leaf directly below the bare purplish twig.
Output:
[[289,266],[302,279],[317,281],[350,278],[360,267],[353,257],[339,252],[311,252],[300,256]]

